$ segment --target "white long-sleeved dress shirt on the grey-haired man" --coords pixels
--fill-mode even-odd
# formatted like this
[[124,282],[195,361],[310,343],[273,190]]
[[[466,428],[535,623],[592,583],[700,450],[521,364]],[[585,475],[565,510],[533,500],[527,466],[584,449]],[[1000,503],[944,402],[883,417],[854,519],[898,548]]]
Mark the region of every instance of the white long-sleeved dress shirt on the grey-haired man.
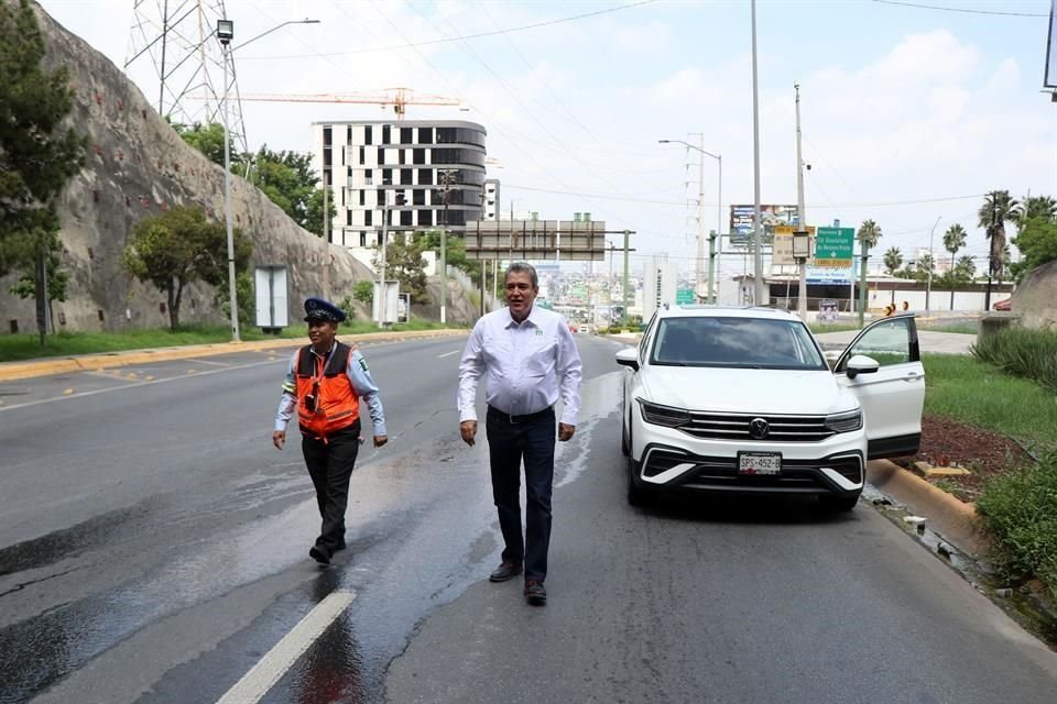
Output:
[[488,405],[511,416],[554,406],[560,395],[560,421],[576,425],[580,410],[580,353],[565,319],[533,306],[523,322],[510,308],[477,321],[459,362],[459,421],[477,420],[477,382],[488,373]]

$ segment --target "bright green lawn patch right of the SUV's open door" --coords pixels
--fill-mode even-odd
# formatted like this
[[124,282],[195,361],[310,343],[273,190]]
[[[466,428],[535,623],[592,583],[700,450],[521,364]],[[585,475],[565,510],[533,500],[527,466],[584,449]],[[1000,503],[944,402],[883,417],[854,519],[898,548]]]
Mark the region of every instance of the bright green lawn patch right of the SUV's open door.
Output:
[[925,354],[925,413],[1001,432],[1031,447],[1053,447],[1057,399],[963,354]]

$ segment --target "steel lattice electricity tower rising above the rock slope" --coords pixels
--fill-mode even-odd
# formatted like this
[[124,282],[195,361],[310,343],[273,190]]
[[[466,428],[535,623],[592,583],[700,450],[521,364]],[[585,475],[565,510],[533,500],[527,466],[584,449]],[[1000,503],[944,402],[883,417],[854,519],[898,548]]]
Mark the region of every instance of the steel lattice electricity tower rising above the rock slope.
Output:
[[159,114],[173,123],[220,122],[224,97],[229,96],[231,141],[236,150],[248,152],[235,59],[225,86],[224,53],[215,36],[217,20],[227,18],[224,0],[133,0],[132,4],[126,75],[131,78],[134,72],[142,79],[139,85],[148,97],[156,96]]

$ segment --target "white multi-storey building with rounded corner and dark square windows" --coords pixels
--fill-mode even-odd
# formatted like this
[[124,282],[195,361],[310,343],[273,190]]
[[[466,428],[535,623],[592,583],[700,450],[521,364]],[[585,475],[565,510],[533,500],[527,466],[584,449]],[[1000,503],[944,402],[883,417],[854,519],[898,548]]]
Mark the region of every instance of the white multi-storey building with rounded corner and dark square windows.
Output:
[[[480,220],[486,136],[483,127],[466,121],[314,122],[313,166],[337,210],[330,241],[371,265],[386,213],[390,239],[439,227],[460,231]],[[498,204],[498,186],[495,195]]]

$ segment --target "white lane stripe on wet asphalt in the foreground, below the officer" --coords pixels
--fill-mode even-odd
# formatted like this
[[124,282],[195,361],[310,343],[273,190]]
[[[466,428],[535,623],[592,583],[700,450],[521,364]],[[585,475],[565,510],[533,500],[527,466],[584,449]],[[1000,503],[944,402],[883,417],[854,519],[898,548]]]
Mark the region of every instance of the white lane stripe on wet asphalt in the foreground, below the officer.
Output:
[[356,598],[353,591],[331,592],[301,619],[293,630],[283,636],[275,647],[250,668],[217,704],[255,704],[286,674],[297,659],[308,650],[323,631]]

